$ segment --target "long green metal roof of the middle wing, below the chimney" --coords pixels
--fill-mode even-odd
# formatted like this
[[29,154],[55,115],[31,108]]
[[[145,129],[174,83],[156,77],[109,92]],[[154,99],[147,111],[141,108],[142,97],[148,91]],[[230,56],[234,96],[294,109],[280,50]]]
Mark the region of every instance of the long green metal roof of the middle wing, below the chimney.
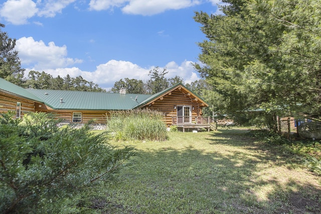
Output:
[[[151,95],[27,89],[53,109],[129,110]],[[62,102],[60,102],[62,98]]]

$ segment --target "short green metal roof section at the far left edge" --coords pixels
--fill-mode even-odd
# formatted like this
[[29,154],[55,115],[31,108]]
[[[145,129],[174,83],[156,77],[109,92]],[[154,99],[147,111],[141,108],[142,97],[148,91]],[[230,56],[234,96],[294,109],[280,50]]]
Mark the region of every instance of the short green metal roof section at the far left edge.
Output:
[[29,100],[37,101],[40,103],[44,103],[42,99],[30,93],[28,90],[19,87],[11,82],[8,82],[5,79],[0,78],[0,90],[7,91],[11,94],[15,94],[18,97],[26,98]]

